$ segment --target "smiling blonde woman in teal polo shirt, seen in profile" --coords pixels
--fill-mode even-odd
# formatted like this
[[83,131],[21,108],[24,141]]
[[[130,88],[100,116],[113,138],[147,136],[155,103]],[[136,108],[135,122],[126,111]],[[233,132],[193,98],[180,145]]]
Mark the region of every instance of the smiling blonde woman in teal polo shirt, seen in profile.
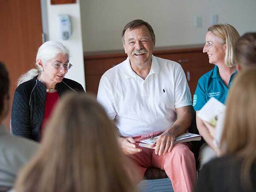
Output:
[[[234,49],[239,37],[236,29],[229,24],[218,24],[208,28],[203,52],[207,53],[209,63],[214,64],[215,67],[198,80],[193,96],[193,107],[196,113],[211,97],[215,97],[222,103],[225,102],[233,77],[237,73]],[[206,142],[199,151],[198,159],[202,166],[216,156],[218,149],[213,145],[213,138],[204,122],[196,117],[196,124],[200,135]]]

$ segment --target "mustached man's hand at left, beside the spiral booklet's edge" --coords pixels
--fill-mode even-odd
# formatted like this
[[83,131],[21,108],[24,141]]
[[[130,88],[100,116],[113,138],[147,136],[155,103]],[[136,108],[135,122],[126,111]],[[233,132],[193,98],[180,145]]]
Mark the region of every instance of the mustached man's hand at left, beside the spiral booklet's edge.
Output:
[[119,144],[121,145],[122,151],[127,154],[136,154],[142,151],[141,148],[138,148],[135,143],[136,141],[132,137],[119,137]]

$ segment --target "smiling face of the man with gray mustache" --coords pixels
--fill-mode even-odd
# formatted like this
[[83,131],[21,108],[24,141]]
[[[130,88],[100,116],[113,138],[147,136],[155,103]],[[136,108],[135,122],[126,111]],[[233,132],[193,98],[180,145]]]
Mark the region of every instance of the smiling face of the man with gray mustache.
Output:
[[155,43],[145,25],[125,31],[123,47],[132,67],[145,68],[151,66],[154,45]]

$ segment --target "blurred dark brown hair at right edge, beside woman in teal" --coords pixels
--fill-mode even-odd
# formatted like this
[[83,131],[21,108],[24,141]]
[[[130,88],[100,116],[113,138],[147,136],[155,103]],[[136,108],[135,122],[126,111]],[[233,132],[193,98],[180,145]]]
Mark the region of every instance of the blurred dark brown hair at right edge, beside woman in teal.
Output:
[[245,33],[236,42],[236,63],[243,67],[256,67],[256,32]]

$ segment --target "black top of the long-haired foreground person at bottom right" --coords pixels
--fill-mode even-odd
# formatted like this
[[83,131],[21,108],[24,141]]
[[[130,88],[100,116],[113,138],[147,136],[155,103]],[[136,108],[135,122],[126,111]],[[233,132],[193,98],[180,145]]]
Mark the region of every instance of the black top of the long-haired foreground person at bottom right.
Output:
[[250,170],[252,189],[241,183],[242,159],[235,156],[215,158],[199,172],[195,192],[253,192],[256,191],[256,163]]

